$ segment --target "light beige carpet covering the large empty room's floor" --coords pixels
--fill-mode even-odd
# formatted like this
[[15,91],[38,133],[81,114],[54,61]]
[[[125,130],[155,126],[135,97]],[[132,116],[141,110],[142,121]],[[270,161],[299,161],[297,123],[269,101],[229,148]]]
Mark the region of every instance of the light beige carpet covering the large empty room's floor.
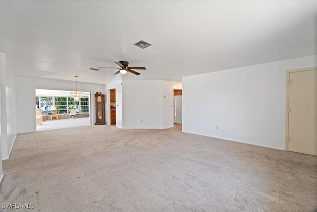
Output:
[[171,130],[21,134],[3,169],[0,203],[41,212],[291,212],[317,202],[315,156]]

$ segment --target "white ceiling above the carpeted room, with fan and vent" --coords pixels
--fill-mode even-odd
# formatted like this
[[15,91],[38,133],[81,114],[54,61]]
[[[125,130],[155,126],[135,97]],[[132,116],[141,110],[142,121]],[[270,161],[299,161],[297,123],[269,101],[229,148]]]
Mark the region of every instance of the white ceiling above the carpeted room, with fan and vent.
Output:
[[179,81],[315,55],[316,2],[0,0],[0,51],[17,76],[105,84],[125,75],[89,68],[123,60]]

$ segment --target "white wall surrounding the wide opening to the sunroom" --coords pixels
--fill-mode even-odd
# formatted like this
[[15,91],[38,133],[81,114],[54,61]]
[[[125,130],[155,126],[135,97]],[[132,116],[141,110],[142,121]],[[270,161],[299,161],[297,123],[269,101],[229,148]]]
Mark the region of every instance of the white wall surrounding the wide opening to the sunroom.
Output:
[[[35,89],[74,90],[74,81],[15,77],[17,133],[36,131]],[[97,91],[103,91],[102,84],[77,82],[77,89],[92,93],[92,123],[95,124],[95,98]]]

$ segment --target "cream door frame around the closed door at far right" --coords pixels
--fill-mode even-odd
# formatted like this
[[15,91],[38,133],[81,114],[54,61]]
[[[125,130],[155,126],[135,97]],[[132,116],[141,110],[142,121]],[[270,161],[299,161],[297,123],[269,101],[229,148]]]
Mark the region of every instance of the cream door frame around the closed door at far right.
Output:
[[317,67],[304,68],[304,69],[295,69],[286,71],[286,104],[285,104],[285,151],[288,151],[288,119],[289,119],[289,80],[290,73],[301,72],[301,71],[313,71],[317,70]]

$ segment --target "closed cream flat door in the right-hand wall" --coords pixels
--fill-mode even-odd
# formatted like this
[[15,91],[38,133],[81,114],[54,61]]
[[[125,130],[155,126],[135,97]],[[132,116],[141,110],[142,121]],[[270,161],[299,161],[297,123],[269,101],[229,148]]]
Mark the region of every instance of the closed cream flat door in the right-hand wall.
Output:
[[291,72],[288,150],[317,155],[317,70]]

